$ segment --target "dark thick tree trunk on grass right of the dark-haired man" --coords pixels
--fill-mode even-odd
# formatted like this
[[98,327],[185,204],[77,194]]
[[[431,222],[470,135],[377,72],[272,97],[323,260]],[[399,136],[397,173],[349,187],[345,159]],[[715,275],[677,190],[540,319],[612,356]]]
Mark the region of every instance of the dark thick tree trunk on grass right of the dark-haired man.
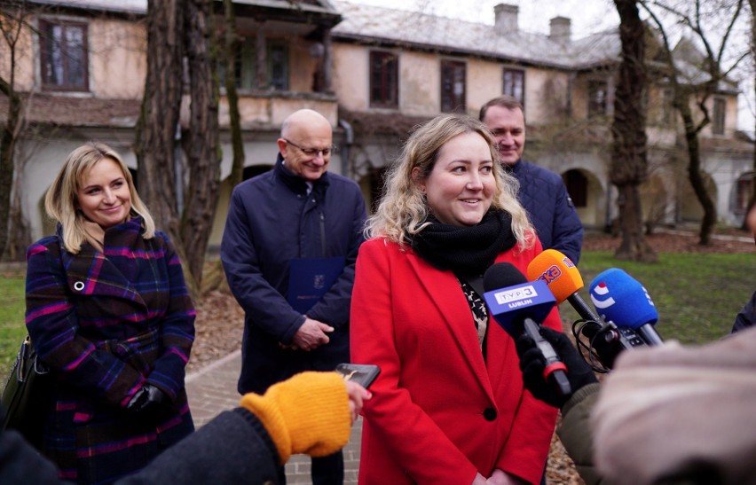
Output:
[[622,63],[619,66],[610,180],[618,188],[619,226],[622,242],[615,256],[633,261],[657,261],[657,254],[643,232],[638,187],[648,176],[646,113],[642,106],[646,85],[644,27],[634,0],[614,0],[619,14]]

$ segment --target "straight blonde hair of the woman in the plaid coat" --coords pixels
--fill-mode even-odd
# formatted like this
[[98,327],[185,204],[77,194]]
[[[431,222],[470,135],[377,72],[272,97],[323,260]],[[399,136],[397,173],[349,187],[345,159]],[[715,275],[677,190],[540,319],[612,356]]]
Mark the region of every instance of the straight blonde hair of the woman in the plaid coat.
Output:
[[79,254],[86,239],[83,223],[86,221],[81,210],[78,209],[77,192],[83,179],[90,173],[99,160],[108,158],[121,168],[123,178],[129,186],[131,194],[130,215],[141,215],[145,239],[152,239],[155,233],[155,223],[142,199],[139,199],[134,180],[129,168],[123,163],[121,156],[107,145],[90,142],[76,148],[68,154],[68,158],[60,168],[50,189],[44,196],[44,210],[47,215],[63,226],[63,246],[72,254]]

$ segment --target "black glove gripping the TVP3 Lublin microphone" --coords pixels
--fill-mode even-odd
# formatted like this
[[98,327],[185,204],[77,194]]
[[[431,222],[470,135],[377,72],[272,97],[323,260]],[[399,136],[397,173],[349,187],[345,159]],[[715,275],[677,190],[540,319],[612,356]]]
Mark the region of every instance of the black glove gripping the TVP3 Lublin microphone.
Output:
[[[567,335],[545,326],[540,327],[540,334],[554,347],[559,360],[567,366],[567,379],[573,393],[580,387],[598,382],[593,370],[580,356]],[[570,399],[570,395],[559,395],[554,386],[544,379],[543,369],[546,367],[546,361],[535,342],[523,333],[516,340],[516,348],[517,355],[520,356],[525,388],[544,403],[561,408]]]

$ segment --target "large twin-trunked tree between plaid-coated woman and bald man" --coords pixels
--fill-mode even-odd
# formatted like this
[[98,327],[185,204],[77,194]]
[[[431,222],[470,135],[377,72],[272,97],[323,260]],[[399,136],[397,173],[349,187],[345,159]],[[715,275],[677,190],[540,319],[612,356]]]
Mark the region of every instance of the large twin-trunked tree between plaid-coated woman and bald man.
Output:
[[[215,215],[221,160],[213,68],[217,45],[210,3],[149,0],[146,19],[147,76],[135,141],[139,191],[158,226],[177,246],[187,284],[196,296]],[[183,163],[177,153],[185,92],[189,118]]]

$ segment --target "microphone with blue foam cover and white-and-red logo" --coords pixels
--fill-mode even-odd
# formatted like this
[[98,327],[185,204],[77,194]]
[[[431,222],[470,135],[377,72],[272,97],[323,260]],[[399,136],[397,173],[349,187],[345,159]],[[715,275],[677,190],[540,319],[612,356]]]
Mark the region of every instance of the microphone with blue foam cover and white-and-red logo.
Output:
[[654,328],[659,314],[641,283],[618,268],[600,273],[589,286],[595,309],[607,322],[629,327],[650,346],[663,345]]

